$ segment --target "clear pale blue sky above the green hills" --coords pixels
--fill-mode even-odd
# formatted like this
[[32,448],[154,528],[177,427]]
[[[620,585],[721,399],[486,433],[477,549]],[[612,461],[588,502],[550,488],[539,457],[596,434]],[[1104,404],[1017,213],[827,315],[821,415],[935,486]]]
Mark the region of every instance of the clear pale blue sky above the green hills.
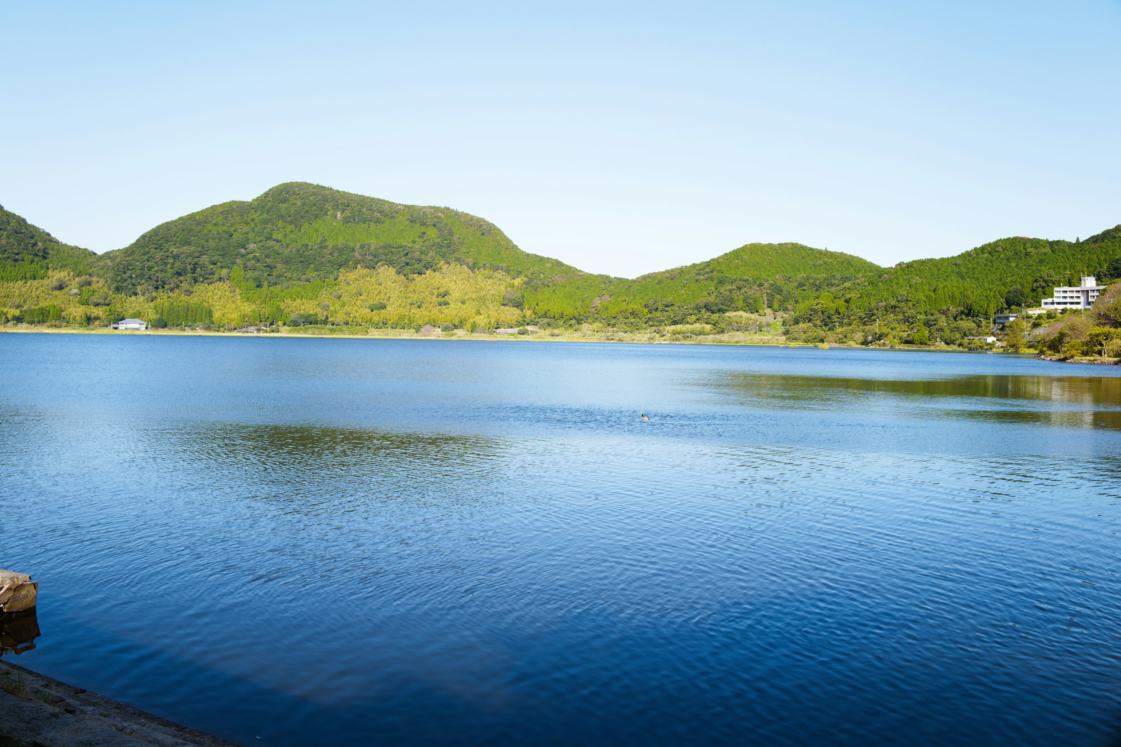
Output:
[[95,251],[304,180],[636,277],[1121,223],[1121,2],[3,3],[0,204]]

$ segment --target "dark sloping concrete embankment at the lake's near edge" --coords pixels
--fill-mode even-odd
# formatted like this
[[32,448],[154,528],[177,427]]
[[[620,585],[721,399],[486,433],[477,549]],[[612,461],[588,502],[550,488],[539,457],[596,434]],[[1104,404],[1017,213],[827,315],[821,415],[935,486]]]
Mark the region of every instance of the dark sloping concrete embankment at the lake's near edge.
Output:
[[0,747],[238,747],[0,662]]

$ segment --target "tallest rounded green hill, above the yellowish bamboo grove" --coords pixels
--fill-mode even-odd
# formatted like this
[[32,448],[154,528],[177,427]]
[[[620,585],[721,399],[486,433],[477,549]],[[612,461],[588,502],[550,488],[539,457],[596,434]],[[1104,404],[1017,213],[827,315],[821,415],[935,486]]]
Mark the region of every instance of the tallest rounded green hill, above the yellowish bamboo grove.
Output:
[[451,261],[513,276],[576,274],[519,250],[495,225],[446,207],[400,205],[291,181],[249,202],[230,202],[169,221],[100,258],[110,286],[126,293],[228,278],[291,288],[341,270],[388,265],[405,276]]

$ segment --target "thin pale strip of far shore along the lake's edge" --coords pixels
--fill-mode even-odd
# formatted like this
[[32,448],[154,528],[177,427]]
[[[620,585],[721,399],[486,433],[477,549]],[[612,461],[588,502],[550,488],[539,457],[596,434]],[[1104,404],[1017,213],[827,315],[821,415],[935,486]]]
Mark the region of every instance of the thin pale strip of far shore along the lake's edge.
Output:
[[[1121,364],[1121,358],[1071,358],[1059,360],[1051,356],[1037,355],[1035,352],[1010,353],[1007,351],[963,351],[954,347],[924,347],[919,345],[900,345],[895,347],[868,346],[842,343],[797,343],[787,342],[776,335],[704,335],[692,339],[643,339],[641,337],[626,339],[626,333],[582,333],[560,332],[558,335],[550,335],[547,332],[538,332],[531,335],[488,335],[456,330],[455,334],[433,333],[417,334],[404,330],[387,330],[385,334],[373,333],[369,335],[317,335],[299,334],[298,332],[282,333],[242,333],[235,330],[203,330],[203,329],[147,329],[147,330],[118,330],[118,329],[80,329],[74,327],[47,328],[47,327],[4,327],[0,333],[10,334],[48,334],[48,335],[147,335],[147,336],[189,336],[189,337],[299,337],[303,339],[330,338],[330,339],[415,339],[415,340],[475,340],[475,342],[508,342],[508,343],[629,343],[639,345],[751,345],[757,347],[798,347],[798,348],[821,348],[821,349],[851,349],[851,351],[906,351],[912,353],[982,353],[986,355],[1018,355],[1037,356],[1044,361],[1056,363],[1083,363],[1097,365]],[[559,332],[559,330],[557,330]],[[462,333],[462,334],[461,334]]]

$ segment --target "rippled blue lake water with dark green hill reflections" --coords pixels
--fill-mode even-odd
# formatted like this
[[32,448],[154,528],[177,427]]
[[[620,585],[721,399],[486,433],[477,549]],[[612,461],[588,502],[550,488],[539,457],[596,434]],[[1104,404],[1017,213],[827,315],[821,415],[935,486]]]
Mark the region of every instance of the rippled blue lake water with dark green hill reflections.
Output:
[[1118,744],[1118,374],[0,335],[19,662],[254,745]]

